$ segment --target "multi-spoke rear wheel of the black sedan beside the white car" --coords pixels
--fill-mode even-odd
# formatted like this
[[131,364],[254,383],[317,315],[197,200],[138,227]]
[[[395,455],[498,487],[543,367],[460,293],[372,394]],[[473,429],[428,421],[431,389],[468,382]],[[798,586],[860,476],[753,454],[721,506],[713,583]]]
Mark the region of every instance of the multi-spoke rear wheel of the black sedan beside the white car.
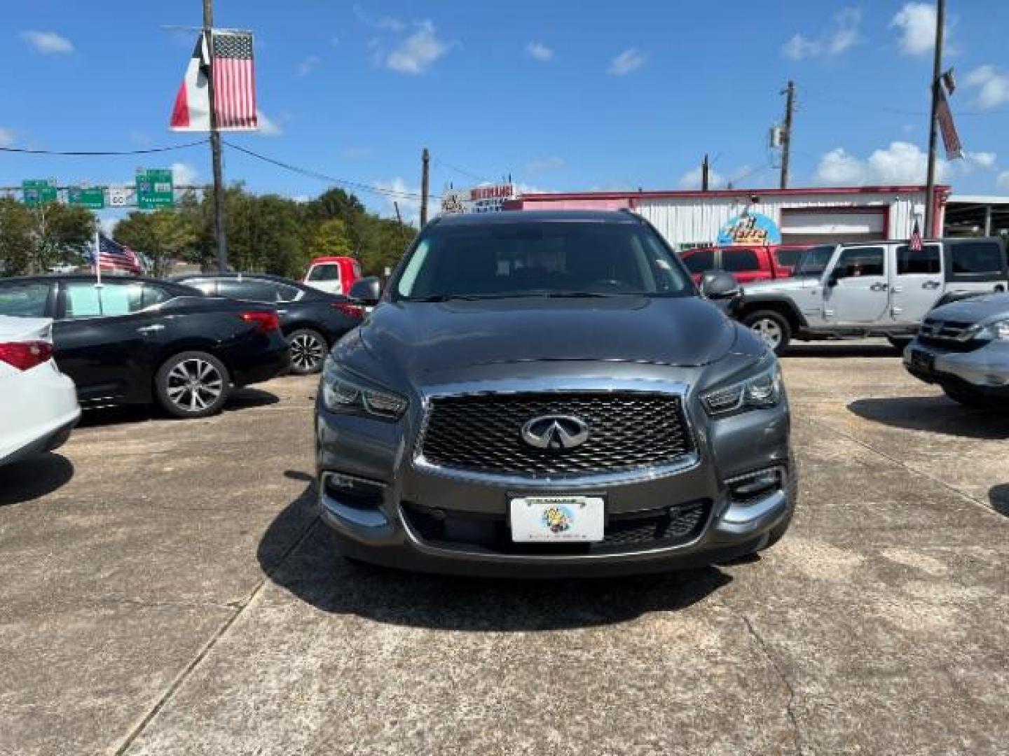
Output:
[[221,411],[231,391],[224,363],[206,352],[182,352],[169,358],[154,376],[154,393],[176,417],[206,417]]

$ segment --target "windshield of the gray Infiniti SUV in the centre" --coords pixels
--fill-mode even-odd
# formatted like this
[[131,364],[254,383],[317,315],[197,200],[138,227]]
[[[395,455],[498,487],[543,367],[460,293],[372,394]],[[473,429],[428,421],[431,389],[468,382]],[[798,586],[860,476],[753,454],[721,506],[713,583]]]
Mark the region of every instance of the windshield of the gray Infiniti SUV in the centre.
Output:
[[685,296],[682,265],[637,223],[437,224],[393,287],[395,299]]

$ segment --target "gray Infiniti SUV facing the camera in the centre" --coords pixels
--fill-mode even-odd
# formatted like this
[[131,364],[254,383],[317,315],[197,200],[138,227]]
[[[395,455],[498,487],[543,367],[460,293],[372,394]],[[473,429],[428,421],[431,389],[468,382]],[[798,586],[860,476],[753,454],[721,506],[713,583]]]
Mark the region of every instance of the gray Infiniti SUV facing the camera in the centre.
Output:
[[[712,286],[713,295],[714,286]],[[333,349],[318,496],[340,552],[600,576],[722,561],[796,501],[777,358],[625,212],[443,217]]]

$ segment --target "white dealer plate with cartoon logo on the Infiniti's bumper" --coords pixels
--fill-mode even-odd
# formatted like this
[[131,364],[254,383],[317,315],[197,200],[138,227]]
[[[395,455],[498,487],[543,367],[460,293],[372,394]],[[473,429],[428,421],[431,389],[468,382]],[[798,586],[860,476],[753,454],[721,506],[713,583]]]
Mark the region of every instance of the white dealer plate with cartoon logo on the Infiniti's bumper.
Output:
[[517,543],[602,540],[605,505],[598,496],[526,496],[512,499],[510,513]]

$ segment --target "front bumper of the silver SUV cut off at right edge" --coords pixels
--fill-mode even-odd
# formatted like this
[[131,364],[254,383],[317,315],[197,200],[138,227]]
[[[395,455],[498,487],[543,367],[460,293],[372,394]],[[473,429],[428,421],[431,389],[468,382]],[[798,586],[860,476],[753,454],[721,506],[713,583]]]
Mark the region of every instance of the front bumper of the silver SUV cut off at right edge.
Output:
[[[915,359],[915,353],[927,359]],[[904,350],[903,359],[907,371],[926,383],[964,383],[985,393],[1009,396],[1009,343],[993,341],[964,352],[916,338]]]

